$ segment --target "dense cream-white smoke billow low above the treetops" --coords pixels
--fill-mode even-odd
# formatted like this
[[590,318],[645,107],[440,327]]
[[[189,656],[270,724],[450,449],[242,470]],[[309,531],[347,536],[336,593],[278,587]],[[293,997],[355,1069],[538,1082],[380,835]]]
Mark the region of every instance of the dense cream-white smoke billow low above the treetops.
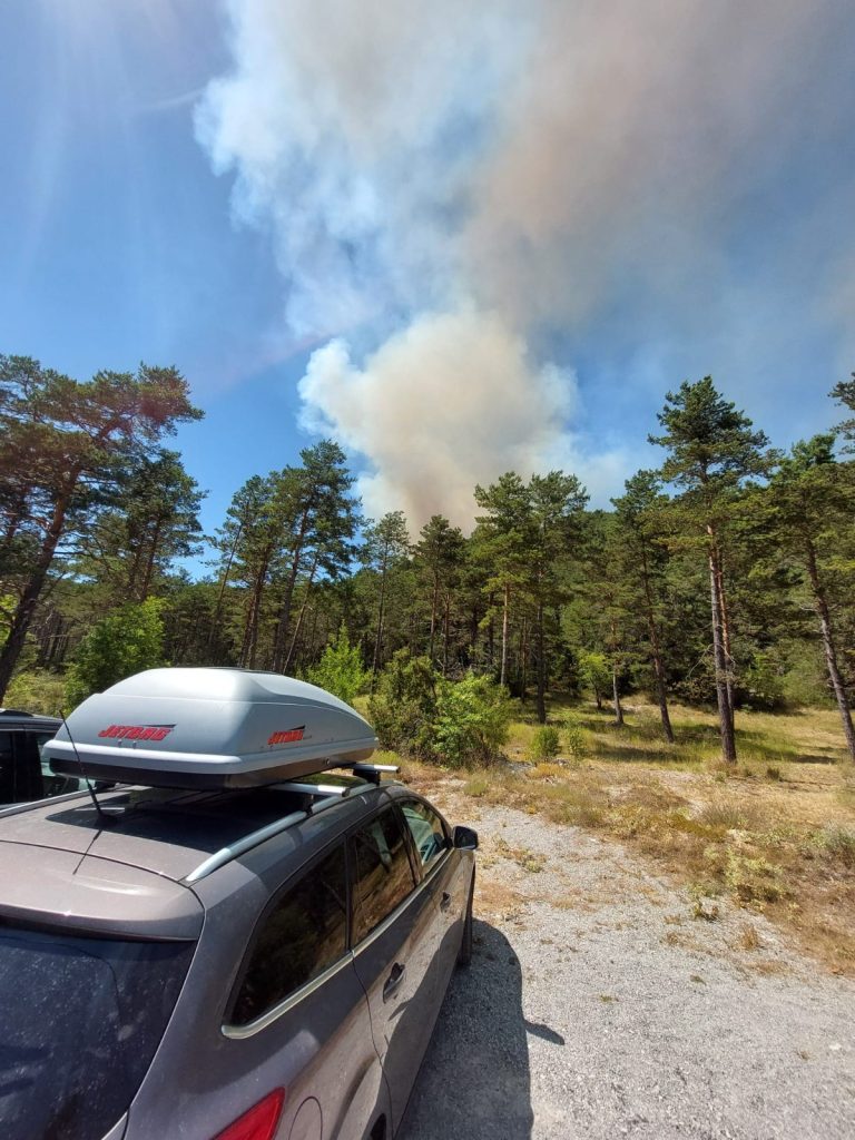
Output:
[[[393,506],[414,528],[439,507],[466,527],[475,483],[505,471],[527,478],[578,451],[565,430],[572,374],[538,367],[520,336],[471,308],[416,318],[361,366],[332,341],[312,355],[300,393],[307,426],[370,457],[374,470],[360,480],[368,513]],[[606,454],[591,474],[600,482],[616,469],[627,473],[625,457]]]

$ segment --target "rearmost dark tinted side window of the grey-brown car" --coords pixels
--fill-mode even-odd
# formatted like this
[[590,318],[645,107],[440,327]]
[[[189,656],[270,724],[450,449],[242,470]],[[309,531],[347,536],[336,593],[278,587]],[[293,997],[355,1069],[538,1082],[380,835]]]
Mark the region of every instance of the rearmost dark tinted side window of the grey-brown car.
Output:
[[246,1025],[336,962],[347,948],[344,847],[279,898],[261,931],[231,1013]]

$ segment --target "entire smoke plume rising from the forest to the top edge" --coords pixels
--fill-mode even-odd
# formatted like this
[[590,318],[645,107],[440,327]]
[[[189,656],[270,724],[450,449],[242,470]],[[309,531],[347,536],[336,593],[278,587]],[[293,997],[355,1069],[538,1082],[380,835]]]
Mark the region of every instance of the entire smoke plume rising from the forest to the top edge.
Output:
[[293,335],[334,337],[303,418],[366,456],[370,510],[465,520],[510,469],[619,492],[626,457],[585,459],[572,373],[543,345],[627,298],[640,343],[665,310],[675,341],[726,317],[733,213],[824,113],[816,60],[846,5],[228,10],[235,68],[198,136],[271,227]]

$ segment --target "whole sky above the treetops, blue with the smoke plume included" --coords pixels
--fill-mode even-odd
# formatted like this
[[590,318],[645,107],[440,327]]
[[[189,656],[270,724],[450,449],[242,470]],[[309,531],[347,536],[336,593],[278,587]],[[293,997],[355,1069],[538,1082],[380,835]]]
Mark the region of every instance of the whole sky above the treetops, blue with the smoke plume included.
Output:
[[777,445],[855,368],[842,0],[7,0],[0,350],[176,364],[222,519],[318,432],[368,510],[604,504],[711,373]]

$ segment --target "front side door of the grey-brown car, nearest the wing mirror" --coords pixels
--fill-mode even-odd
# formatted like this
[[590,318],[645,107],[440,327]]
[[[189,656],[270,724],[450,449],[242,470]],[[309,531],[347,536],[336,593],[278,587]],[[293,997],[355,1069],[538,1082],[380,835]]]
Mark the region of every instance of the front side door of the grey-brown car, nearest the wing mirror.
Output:
[[451,846],[448,828],[438,812],[423,799],[398,799],[420,864],[424,887],[437,907],[434,927],[434,986],[439,1010],[461,945],[461,920],[469,898],[469,878]]

